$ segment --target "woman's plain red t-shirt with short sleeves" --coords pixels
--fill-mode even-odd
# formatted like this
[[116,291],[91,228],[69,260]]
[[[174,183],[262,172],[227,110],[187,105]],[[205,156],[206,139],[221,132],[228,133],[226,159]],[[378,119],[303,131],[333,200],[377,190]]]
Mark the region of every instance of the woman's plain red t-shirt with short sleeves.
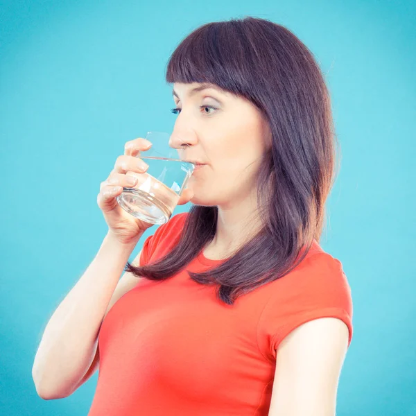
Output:
[[[144,242],[141,264],[177,243],[188,214],[177,214]],[[222,260],[202,251],[200,272]],[[100,365],[89,416],[268,415],[281,340],[304,322],[343,320],[352,339],[352,297],[342,264],[316,241],[297,268],[234,305],[186,270],[164,281],[138,278],[103,320]]]

